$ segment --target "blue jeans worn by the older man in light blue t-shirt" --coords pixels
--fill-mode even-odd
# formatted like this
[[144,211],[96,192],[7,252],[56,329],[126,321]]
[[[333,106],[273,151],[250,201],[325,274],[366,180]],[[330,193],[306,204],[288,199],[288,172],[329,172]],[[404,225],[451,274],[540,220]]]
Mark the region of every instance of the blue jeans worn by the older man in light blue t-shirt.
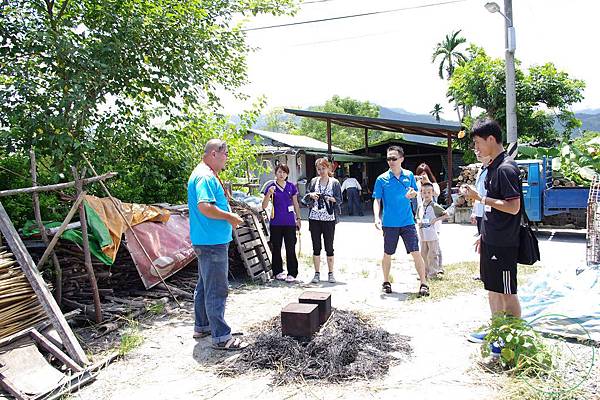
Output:
[[225,301],[229,291],[229,243],[194,246],[198,256],[198,283],[194,291],[194,332],[210,332],[213,343],[231,339],[225,322]]

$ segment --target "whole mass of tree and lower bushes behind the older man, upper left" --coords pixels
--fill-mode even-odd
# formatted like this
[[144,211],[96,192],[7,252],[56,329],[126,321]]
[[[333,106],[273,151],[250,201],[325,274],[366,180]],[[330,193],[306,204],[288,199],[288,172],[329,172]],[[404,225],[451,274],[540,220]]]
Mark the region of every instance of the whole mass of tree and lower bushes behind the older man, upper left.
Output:
[[[243,129],[213,115],[218,93],[236,93],[247,79],[240,17],[294,11],[293,0],[2,2],[0,165],[18,160],[28,175],[34,147],[40,181],[57,183],[87,153],[99,172],[120,173],[109,185],[134,202],[184,200],[211,137],[236,147],[226,177],[245,170],[253,157]],[[26,200],[5,203],[17,220]],[[44,218],[56,219],[49,207]]]

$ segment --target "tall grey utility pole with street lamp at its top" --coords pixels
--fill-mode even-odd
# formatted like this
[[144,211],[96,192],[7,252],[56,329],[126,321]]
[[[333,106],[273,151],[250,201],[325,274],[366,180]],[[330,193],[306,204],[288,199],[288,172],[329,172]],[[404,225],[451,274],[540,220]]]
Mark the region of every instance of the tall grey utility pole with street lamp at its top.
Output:
[[517,93],[515,89],[515,50],[517,41],[513,26],[512,0],[504,0],[504,13],[498,3],[485,4],[486,10],[499,13],[504,17],[505,30],[505,60],[506,60],[506,138],[508,141],[508,155],[517,156]]

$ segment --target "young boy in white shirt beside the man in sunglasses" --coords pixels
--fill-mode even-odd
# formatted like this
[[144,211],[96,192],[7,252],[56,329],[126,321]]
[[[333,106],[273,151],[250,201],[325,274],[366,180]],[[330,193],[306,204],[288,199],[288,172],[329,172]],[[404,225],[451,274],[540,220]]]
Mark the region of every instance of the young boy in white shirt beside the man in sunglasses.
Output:
[[417,224],[421,241],[421,255],[425,261],[427,277],[440,276],[442,269],[442,252],[440,250],[439,231],[442,221],[448,218],[446,210],[433,200],[433,185],[421,185],[423,203],[417,209]]

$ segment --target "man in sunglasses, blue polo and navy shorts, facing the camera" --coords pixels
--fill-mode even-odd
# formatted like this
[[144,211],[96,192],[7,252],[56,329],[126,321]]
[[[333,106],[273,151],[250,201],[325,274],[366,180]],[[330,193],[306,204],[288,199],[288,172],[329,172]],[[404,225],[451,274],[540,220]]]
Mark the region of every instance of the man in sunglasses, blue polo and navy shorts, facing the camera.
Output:
[[[402,161],[404,161],[402,147],[390,146],[387,149],[387,162],[390,169],[377,177],[373,190],[375,227],[383,229],[382,289],[385,293],[392,293],[390,283],[392,255],[396,252],[398,240],[402,237],[406,253],[413,257],[421,280],[419,296],[429,296],[425,262],[419,252],[419,237],[410,204],[410,200],[417,196],[417,182],[412,172],[402,168]],[[382,202],[383,222],[379,216]]]

